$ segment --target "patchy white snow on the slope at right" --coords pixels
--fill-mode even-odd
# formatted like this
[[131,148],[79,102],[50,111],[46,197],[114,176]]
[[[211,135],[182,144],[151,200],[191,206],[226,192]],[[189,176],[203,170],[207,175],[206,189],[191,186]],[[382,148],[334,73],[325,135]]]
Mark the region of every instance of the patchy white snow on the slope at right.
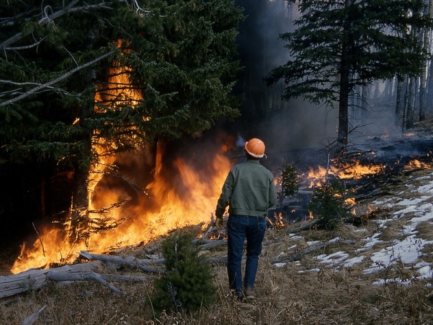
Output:
[[[405,190],[399,191],[395,197],[386,197],[376,200],[372,203],[373,208],[388,208],[392,217],[390,219],[373,220],[378,224],[378,232],[373,236],[363,239],[365,245],[352,252],[334,252],[332,254],[321,254],[315,259],[332,269],[338,270],[341,267],[353,267],[357,263],[369,258],[369,267],[363,270],[364,274],[372,274],[381,269],[386,269],[403,263],[404,267],[415,270],[417,276],[412,278],[392,278],[376,280],[373,284],[382,285],[386,282],[401,282],[409,284],[415,278],[429,279],[433,278],[433,267],[430,263],[423,261],[422,250],[425,245],[433,244],[419,237],[418,226],[423,222],[433,224],[433,172],[420,178],[409,178],[404,184]],[[398,239],[391,241],[382,240],[382,234],[388,226],[395,226],[397,221],[400,222],[400,228],[397,230]],[[394,222],[394,224],[393,224]],[[358,232],[362,232],[360,228]],[[292,240],[300,240],[301,237],[290,234]],[[338,241],[335,238],[332,241]],[[329,241],[328,243],[332,242]],[[310,241],[308,245],[317,245],[317,241]],[[375,249],[376,247],[378,247]],[[295,247],[295,245],[293,246]],[[367,254],[368,253],[368,254]],[[354,256],[354,257],[351,257]],[[285,263],[275,263],[276,267],[282,267]],[[308,269],[301,272],[317,272],[319,269]]]

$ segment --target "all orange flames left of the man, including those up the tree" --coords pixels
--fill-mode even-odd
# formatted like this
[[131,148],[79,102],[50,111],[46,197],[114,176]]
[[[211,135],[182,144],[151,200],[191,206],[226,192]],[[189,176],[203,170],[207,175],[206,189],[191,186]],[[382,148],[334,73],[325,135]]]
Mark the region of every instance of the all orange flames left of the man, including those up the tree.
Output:
[[[116,67],[114,62],[108,82],[99,85],[95,110],[101,110],[98,107],[100,103],[109,106],[110,103],[121,102],[134,106],[143,100],[130,84],[128,75],[128,69]],[[121,246],[148,243],[183,226],[202,224],[206,227],[232,165],[224,155],[230,149],[228,142],[221,141],[208,152],[201,147],[201,156],[185,158],[178,155],[170,158],[169,164],[164,161],[166,148],[158,145],[155,161],[152,162],[154,170],[150,171],[145,170],[150,165],[146,160],[154,155],[148,152],[143,155],[143,148],[137,148],[132,154],[106,154],[104,150],[110,144],[101,142],[95,134],[93,147],[100,158],[90,170],[88,210],[72,215],[69,224],[51,224],[37,229],[38,238],[32,245],[23,243],[21,255],[11,272],[16,274],[33,267],[49,267],[52,263],[71,263],[82,250],[100,254]],[[203,157],[206,159],[204,163]],[[149,176],[152,172],[153,178],[140,190],[128,182],[127,188],[113,184],[111,180],[107,181],[107,173],[117,173],[116,161],[133,161],[139,170],[136,171],[138,176],[134,175],[138,179],[140,173]],[[125,180],[126,177],[119,182],[125,183]],[[113,208],[116,202],[127,204]],[[90,231],[90,226],[87,226],[74,230],[73,222],[80,218],[85,225],[95,227],[103,221],[104,225],[111,225],[112,228]],[[82,237],[86,240],[80,240]]]

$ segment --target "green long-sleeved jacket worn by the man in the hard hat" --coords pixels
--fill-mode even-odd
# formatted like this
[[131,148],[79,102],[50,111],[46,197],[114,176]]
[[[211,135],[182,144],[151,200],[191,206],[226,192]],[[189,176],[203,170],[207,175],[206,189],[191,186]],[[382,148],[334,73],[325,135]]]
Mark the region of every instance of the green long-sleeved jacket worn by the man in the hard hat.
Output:
[[225,179],[216,217],[222,217],[227,205],[231,215],[262,217],[277,200],[273,175],[258,160],[234,165]]

